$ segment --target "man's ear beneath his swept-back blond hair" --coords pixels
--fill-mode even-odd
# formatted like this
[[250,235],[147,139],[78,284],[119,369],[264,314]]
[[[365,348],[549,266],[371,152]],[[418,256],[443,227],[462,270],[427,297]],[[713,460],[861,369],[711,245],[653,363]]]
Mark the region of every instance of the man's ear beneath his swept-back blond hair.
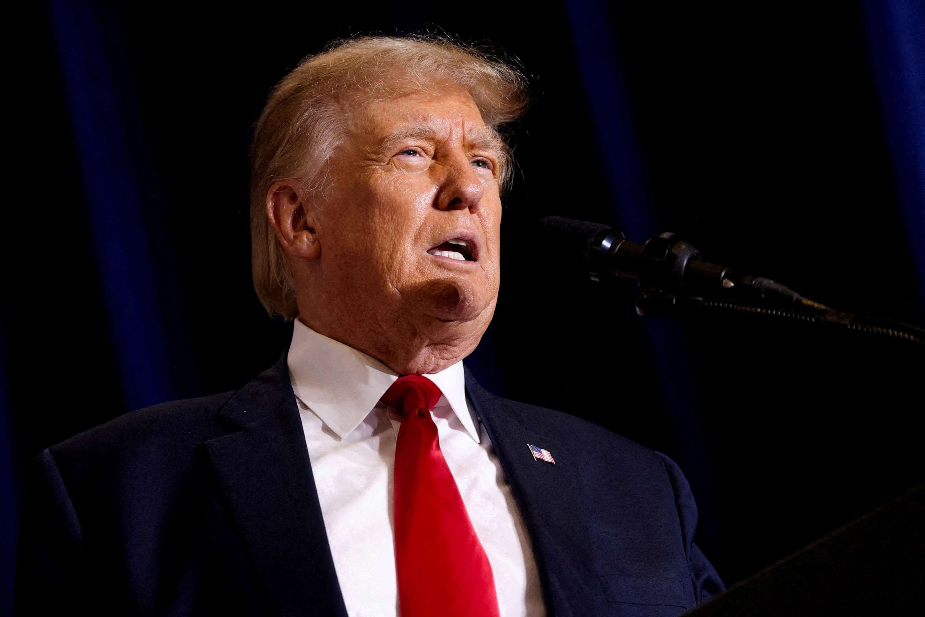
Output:
[[317,259],[321,242],[314,228],[314,211],[302,200],[299,180],[284,179],[266,191],[266,217],[283,250],[302,259]]

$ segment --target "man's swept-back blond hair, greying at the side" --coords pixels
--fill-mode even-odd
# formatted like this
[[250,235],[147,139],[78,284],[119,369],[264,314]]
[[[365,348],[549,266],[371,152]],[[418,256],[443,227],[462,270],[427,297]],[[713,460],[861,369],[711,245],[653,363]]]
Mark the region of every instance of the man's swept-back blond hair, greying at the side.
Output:
[[[279,179],[322,189],[327,157],[343,139],[343,105],[445,85],[464,87],[492,130],[524,113],[523,75],[487,52],[432,36],[366,36],[328,45],[308,56],[270,93],[251,146],[251,256],[253,286],[270,315],[299,315],[286,253],[266,216],[266,193]],[[510,153],[499,170],[510,182]]]

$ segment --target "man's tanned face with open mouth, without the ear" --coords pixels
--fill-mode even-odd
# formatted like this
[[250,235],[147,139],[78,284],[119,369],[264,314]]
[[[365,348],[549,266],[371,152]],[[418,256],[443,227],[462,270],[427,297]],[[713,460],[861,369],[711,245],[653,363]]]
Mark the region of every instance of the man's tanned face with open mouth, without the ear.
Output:
[[462,88],[364,105],[348,127],[314,197],[324,303],[358,326],[429,318],[481,337],[499,287],[497,135]]

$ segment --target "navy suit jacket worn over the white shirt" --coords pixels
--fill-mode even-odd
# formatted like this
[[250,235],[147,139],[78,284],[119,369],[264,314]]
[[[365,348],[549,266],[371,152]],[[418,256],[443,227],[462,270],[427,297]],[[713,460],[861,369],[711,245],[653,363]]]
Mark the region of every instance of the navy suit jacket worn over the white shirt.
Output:
[[[550,615],[675,615],[722,590],[671,460],[468,373],[466,388]],[[285,354],[237,392],[127,413],[44,450],[29,486],[18,614],[346,615]]]

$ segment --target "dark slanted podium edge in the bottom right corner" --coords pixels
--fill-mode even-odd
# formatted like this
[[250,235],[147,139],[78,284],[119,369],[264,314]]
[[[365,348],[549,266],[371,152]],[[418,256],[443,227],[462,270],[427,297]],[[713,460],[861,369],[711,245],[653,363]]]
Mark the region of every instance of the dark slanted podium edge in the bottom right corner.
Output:
[[685,617],[925,614],[925,485]]

